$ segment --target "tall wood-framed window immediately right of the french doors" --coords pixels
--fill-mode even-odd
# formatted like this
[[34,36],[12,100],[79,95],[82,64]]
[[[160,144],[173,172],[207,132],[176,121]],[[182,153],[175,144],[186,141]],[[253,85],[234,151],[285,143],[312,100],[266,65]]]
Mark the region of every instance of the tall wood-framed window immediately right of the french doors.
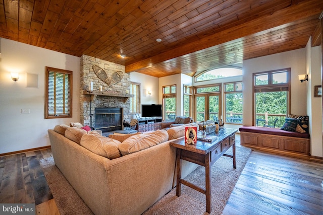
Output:
[[225,122],[242,124],[242,82],[225,83]]

